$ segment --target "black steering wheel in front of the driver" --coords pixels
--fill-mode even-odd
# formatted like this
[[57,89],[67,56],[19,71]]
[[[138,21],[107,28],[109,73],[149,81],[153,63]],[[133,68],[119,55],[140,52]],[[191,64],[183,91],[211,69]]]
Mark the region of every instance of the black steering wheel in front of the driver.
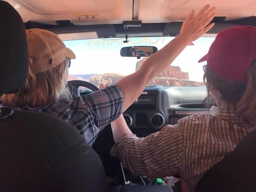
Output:
[[92,91],[98,91],[100,90],[98,87],[96,87],[94,84],[91,84],[87,81],[81,81],[81,80],[72,80],[68,81],[68,88],[70,91],[74,92],[77,96],[80,96],[79,87],[86,87],[91,89]]

